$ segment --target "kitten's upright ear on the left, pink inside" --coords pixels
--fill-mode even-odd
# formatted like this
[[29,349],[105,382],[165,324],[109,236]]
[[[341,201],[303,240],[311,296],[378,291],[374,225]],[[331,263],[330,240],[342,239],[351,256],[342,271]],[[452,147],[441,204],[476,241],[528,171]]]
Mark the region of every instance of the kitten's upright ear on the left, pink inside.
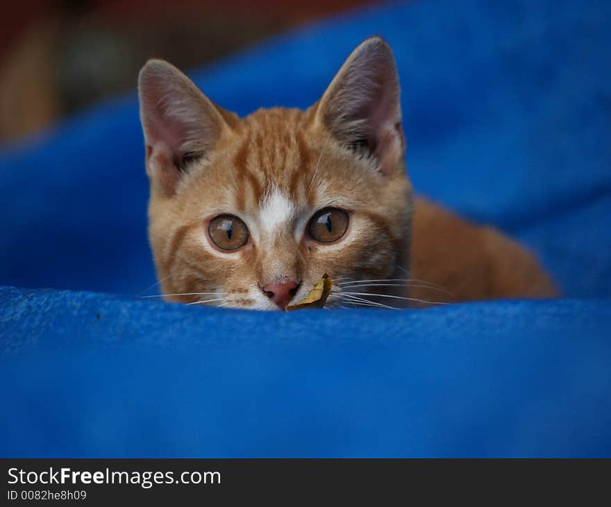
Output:
[[163,60],[142,67],[138,98],[151,190],[169,197],[188,163],[214,147],[229,113],[222,115],[190,78]]

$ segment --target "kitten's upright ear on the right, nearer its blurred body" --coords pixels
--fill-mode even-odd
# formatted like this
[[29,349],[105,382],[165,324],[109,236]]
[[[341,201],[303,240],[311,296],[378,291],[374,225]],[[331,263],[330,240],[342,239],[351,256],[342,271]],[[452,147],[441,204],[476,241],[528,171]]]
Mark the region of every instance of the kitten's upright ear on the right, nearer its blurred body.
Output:
[[367,150],[390,175],[403,157],[399,75],[380,37],[362,42],[320,99],[316,118],[344,146]]

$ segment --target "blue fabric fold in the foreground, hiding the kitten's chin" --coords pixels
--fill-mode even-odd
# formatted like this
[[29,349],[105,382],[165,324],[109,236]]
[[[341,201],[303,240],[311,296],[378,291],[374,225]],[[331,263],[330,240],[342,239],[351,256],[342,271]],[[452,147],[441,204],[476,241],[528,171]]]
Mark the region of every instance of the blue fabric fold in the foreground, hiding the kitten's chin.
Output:
[[0,290],[4,456],[609,456],[610,299],[266,313]]

